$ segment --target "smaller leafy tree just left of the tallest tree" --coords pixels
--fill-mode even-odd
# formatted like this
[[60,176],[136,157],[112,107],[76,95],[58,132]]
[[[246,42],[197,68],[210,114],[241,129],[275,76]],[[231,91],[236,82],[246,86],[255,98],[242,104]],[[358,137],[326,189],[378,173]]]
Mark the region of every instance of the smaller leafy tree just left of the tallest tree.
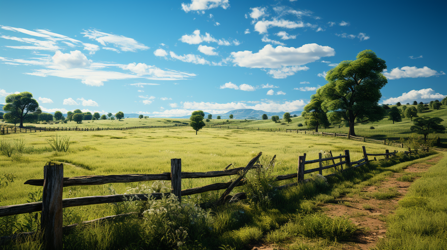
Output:
[[301,116],[304,117],[304,124],[308,128],[315,129],[315,132],[318,132],[318,127],[320,126],[329,126],[326,111],[321,107],[323,100],[321,99],[320,92],[320,89],[318,89],[316,94],[310,97],[310,102],[304,106],[304,111],[301,112]]

